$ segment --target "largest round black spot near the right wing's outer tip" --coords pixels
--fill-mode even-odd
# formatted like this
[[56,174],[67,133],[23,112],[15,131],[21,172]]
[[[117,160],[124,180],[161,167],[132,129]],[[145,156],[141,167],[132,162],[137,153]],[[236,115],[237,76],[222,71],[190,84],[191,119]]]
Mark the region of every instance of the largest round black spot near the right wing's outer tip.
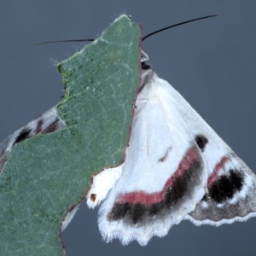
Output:
[[222,203],[231,199],[237,191],[240,191],[242,185],[243,176],[241,172],[230,170],[230,176],[223,175],[208,187],[209,196],[212,201]]

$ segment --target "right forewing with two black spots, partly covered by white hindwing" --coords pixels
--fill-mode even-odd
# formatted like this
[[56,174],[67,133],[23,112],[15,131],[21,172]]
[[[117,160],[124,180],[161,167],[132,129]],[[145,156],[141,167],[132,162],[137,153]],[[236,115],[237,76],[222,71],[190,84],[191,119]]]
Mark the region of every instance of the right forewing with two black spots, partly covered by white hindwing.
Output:
[[[173,91],[172,94],[176,94]],[[178,94],[178,93],[177,93]],[[201,148],[207,172],[205,195],[187,218],[194,224],[231,224],[256,216],[256,177],[247,165],[218,137],[206,121],[183,100],[180,108],[187,127]]]

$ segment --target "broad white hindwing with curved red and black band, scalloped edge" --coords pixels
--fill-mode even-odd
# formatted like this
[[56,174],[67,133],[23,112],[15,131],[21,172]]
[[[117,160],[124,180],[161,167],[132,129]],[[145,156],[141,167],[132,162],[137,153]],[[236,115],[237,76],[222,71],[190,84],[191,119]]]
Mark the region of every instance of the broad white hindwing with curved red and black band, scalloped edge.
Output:
[[[152,236],[166,236],[201,201],[207,172],[179,108],[183,102],[172,86],[157,77],[138,95],[121,175],[100,208],[106,241],[146,245]],[[101,184],[95,193],[96,187]]]

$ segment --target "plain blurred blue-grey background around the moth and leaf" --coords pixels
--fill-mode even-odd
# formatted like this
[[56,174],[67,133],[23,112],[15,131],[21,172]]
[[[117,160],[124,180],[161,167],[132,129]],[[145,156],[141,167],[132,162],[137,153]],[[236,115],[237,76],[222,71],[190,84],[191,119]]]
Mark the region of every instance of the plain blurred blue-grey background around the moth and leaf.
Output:
[[[204,15],[143,42],[160,78],[171,83],[252,170],[255,158],[255,1],[2,1],[0,3],[0,141],[53,107],[62,95],[54,67],[81,44],[33,44],[95,38],[122,13],[143,34]],[[54,60],[54,61],[52,61]],[[74,184],[75,185],[75,184]],[[62,237],[67,255],[254,255],[256,218],[196,227],[189,221],[148,246],[105,243],[97,209],[82,204]]]

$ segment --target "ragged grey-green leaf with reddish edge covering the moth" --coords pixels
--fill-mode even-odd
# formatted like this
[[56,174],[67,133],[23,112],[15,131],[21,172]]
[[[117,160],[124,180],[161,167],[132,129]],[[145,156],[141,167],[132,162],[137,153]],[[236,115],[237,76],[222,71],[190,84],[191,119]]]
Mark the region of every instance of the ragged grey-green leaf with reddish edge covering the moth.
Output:
[[26,139],[9,155],[0,176],[0,255],[63,254],[58,230],[67,209],[84,198],[92,173],[123,159],[139,40],[139,26],[121,15],[59,65],[66,95],[56,108],[66,128]]

